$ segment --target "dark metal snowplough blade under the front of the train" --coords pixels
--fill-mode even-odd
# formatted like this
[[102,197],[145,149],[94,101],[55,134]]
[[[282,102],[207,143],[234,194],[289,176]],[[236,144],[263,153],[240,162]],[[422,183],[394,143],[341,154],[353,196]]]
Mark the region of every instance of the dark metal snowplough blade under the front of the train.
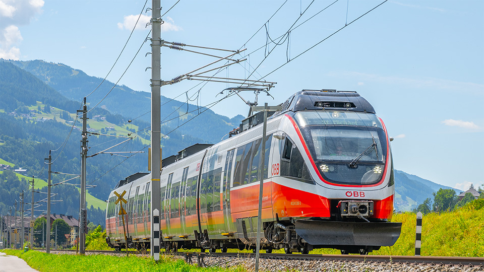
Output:
[[402,223],[296,220],[295,231],[311,245],[392,246]]

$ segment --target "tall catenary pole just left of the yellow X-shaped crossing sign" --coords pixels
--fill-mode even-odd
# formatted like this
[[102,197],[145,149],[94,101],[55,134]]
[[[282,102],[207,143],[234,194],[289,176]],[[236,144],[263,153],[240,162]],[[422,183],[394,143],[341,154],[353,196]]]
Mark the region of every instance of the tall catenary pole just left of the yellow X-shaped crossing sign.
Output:
[[[82,145],[81,145],[81,203],[79,206],[79,253],[86,254],[86,227],[87,227],[87,210],[86,210],[86,158],[87,158],[87,106],[84,97],[84,106],[78,110],[77,114],[82,113]],[[128,250],[128,249],[127,249]]]

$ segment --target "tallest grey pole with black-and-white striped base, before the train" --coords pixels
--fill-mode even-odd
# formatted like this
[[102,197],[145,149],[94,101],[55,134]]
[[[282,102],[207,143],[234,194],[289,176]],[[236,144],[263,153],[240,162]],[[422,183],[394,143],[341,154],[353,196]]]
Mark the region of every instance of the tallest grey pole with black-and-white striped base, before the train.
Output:
[[160,259],[161,3],[151,2],[151,256]]

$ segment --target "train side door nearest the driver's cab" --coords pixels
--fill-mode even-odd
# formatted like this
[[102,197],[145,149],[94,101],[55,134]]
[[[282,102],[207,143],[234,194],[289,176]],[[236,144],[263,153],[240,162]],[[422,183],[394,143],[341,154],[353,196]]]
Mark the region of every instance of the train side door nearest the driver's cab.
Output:
[[233,232],[234,225],[232,224],[232,218],[230,216],[230,182],[232,180],[232,166],[235,149],[227,151],[225,157],[225,166],[223,175],[223,188],[222,188],[222,209],[223,219],[225,223],[225,230],[227,232]]

